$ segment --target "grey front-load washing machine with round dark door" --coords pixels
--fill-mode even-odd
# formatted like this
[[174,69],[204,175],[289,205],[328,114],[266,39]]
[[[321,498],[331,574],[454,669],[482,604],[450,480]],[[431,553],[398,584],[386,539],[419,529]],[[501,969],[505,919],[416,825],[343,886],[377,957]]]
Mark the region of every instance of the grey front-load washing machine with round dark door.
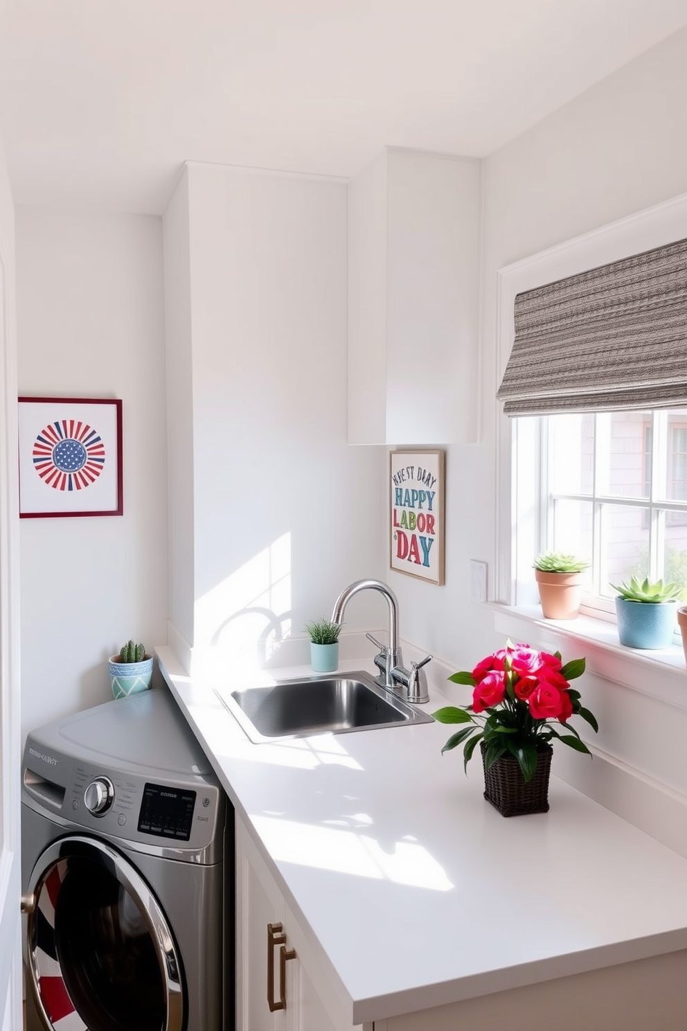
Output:
[[234,813],[166,688],[28,736],[28,1031],[234,1027]]

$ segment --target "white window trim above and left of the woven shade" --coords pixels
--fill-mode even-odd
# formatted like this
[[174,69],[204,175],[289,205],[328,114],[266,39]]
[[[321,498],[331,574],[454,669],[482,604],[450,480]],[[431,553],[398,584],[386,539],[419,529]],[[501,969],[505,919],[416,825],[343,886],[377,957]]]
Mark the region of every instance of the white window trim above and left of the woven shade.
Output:
[[[647,208],[619,222],[611,223],[590,233],[577,236],[557,246],[542,251],[502,268],[497,272],[496,293],[496,383],[494,393],[503,379],[515,335],[514,308],[516,295],[526,290],[545,286],[556,279],[576,275],[587,269],[609,262],[619,261],[673,240],[687,237],[687,194],[662,204]],[[524,555],[528,561],[536,554],[537,541],[520,541],[520,556],[515,548],[517,522],[516,497],[512,489],[517,471],[517,450],[512,420],[496,405],[496,570],[495,601],[506,605],[515,603],[515,584],[522,572]],[[533,420],[533,430],[535,432]],[[541,473],[529,473],[530,490],[542,490]],[[538,531],[535,530],[535,533]]]

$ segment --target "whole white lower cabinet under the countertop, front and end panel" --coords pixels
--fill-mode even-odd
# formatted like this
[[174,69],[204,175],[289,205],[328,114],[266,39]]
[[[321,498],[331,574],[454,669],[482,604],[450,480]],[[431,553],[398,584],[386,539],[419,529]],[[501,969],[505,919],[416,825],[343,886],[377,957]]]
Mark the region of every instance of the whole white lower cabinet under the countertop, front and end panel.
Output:
[[506,1026],[512,1031],[553,1027],[683,1031],[687,1027],[685,951],[353,1026],[334,994],[322,960],[238,819],[236,877],[238,1031],[494,1031]]

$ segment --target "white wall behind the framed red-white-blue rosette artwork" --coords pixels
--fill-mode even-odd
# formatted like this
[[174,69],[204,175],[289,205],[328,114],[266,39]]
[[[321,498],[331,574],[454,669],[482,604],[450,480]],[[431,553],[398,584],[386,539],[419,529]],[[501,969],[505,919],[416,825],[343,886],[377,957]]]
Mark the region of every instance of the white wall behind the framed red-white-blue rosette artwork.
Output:
[[107,657],[166,641],[162,220],[16,210],[19,387],[116,397],[124,516],[21,521],[24,732],[111,698]]

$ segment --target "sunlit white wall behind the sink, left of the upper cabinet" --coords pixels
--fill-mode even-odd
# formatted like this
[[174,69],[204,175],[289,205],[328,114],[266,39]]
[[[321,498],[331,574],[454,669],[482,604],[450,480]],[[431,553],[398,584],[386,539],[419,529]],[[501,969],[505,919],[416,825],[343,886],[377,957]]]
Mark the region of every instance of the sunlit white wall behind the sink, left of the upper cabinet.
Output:
[[[165,217],[167,258],[183,246],[179,192],[191,252],[190,301],[175,304],[192,323],[188,643],[253,664],[384,568],[385,453],[346,443],[346,188],[192,165]],[[173,278],[183,290],[181,266]],[[348,617],[380,626],[383,600],[362,598]]]

